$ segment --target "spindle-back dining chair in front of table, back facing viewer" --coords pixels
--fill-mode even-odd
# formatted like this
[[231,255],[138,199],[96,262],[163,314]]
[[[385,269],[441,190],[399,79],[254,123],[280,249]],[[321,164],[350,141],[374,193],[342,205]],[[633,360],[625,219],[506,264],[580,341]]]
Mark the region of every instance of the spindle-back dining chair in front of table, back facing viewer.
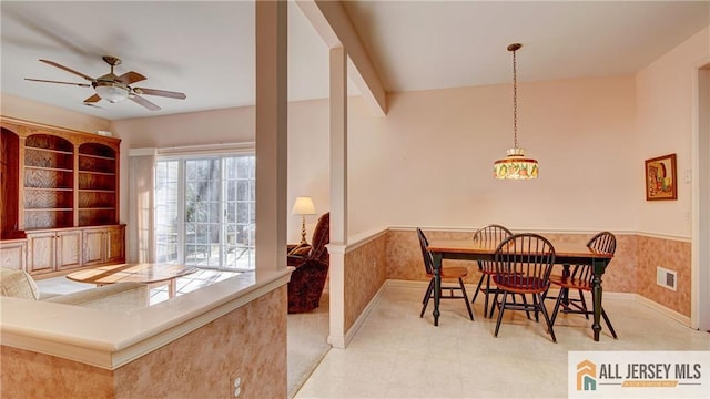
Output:
[[[555,248],[547,238],[534,234],[515,234],[504,239],[496,248],[494,255],[496,274],[493,280],[500,291],[503,299],[498,307],[498,320],[494,336],[498,336],[503,314],[508,310],[535,311],[545,316],[547,332],[552,342],[557,342],[552,323],[545,308],[544,295],[550,285],[550,273],[555,264]],[[527,301],[517,304],[508,300],[516,294],[531,295],[532,304]]]

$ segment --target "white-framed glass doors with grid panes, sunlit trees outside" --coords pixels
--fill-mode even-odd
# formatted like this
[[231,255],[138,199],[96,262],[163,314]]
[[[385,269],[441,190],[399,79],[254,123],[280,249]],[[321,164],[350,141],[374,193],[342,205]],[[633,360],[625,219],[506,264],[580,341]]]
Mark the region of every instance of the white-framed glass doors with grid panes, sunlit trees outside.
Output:
[[255,267],[255,157],[161,158],[155,165],[155,260]]

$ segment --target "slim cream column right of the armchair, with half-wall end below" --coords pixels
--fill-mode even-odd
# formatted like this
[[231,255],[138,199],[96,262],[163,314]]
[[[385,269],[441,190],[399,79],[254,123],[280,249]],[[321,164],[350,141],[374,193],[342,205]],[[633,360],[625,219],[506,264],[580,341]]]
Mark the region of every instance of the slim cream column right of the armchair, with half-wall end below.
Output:
[[347,57],[331,49],[331,334],[345,347],[345,248],[347,246]]

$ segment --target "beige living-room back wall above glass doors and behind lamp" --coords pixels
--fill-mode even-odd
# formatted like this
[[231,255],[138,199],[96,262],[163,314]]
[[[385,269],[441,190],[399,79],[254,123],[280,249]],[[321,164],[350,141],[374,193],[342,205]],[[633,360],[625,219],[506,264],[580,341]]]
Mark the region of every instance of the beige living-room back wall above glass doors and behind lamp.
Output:
[[[329,209],[327,101],[291,103],[288,110],[288,212],[296,196],[313,196],[316,212]],[[254,108],[235,108],[112,122],[121,139],[122,175],[128,176],[128,150],[217,143],[254,142]],[[121,203],[128,204],[128,180],[121,182]],[[128,219],[128,206],[121,209]],[[308,239],[317,216],[306,216]],[[288,243],[301,239],[301,216],[290,215]]]

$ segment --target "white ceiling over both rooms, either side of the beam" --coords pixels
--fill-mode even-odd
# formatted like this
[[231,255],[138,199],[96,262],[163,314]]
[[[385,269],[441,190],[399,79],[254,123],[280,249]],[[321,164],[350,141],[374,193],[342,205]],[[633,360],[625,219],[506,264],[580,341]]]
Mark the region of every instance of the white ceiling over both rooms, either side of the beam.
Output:
[[[510,81],[513,42],[520,81],[633,73],[710,24],[710,1],[348,1],[351,16],[388,92]],[[252,1],[0,1],[0,89],[87,114],[119,120],[254,103]],[[148,79],[133,86],[184,92],[145,96],[152,112],[126,101],[82,101],[90,88],[39,62],[91,76],[109,72],[102,55]],[[288,3],[288,96],[326,98],[327,48]],[[351,85],[353,90],[353,85]]]

